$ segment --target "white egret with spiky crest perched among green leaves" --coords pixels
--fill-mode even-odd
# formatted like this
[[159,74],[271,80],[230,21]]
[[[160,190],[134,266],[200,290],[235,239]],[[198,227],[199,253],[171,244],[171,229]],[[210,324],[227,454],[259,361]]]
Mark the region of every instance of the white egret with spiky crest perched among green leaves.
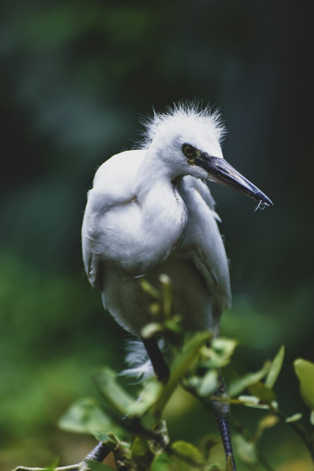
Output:
[[[217,113],[177,105],[146,122],[140,148],[114,155],[95,174],[82,226],[86,273],[105,308],[138,337],[153,320],[139,276],[158,286],[160,274],[169,275],[174,312],[186,330],[217,334],[222,309],[231,305],[219,217],[205,180],[273,206],[225,161],[223,135]],[[144,345],[155,373],[167,381],[169,370],[156,342],[144,340]],[[219,418],[217,423],[229,455],[229,431]]]

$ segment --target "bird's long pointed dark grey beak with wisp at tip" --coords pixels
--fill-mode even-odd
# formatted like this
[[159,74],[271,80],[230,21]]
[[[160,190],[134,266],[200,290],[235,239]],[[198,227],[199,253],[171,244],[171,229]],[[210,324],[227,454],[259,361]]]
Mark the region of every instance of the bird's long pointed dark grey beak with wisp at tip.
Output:
[[195,157],[194,165],[202,167],[208,172],[209,179],[217,181],[221,185],[233,188],[234,190],[250,196],[256,201],[266,204],[273,208],[272,201],[264,195],[253,183],[247,180],[236,171],[228,162],[223,158],[213,157],[202,152],[199,156]]

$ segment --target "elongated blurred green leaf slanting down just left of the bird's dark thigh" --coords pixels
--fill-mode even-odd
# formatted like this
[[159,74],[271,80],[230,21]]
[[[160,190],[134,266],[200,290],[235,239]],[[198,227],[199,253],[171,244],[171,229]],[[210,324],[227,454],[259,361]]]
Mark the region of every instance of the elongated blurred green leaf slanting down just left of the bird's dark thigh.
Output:
[[92,378],[99,392],[111,406],[121,415],[129,414],[136,400],[116,382],[117,374],[114,371],[107,367],[99,367],[93,371]]

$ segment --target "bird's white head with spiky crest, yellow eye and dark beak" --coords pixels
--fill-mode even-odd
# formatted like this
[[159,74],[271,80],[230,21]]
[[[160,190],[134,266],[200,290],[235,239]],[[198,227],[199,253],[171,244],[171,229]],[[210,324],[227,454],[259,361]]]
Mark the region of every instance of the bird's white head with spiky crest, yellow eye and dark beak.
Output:
[[225,161],[221,141],[225,127],[217,112],[196,105],[175,105],[145,123],[143,147],[153,151],[173,176],[212,180],[273,207],[271,200]]

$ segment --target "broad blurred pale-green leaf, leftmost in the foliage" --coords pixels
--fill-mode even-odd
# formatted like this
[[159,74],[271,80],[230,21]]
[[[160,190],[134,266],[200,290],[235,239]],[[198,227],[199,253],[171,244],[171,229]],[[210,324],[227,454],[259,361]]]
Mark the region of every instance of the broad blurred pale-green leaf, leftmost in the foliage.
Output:
[[111,420],[104,414],[97,401],[84,398],[76,401],[58,422],[62,430],[74,433],[91,433],[112,428]]

